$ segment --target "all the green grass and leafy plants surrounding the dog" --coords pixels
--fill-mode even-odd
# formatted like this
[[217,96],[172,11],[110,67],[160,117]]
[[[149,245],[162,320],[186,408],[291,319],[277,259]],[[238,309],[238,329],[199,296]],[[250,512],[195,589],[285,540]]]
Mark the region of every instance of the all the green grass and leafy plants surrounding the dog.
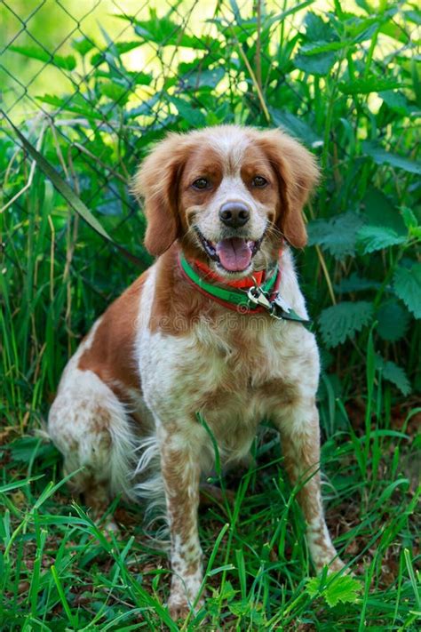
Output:
[[[46,63],[48,83],[38,92],[28,84],[8,115],[145,266],[145,219],[129,184],[166,131],[284,125],[322,165],[297,264],[322,353],[327,521],[359,583],[314,578],[273,431],[254,446],[255,466],[226,474],[234,505],[201,509],[207,601],[184,626],[165,609],[171,572],[147,538],[144,508],[115,500],[121,536],[109,541],[71,498],[59,453],[34,430],[68,357],[138,270],[69,211],[2,122],[0,629],[419,628],[416,7],[359,2],[346,12],[335,2],[328,13],[282,2],[257,20],[218,2],[203,22],[192,2],[194,14],[174,5],[165,20],[162,8],[160,20],[115,18],[116,34],[127,27],[115,41],[100,30],[93,40],[57,38],[55,57],[40,61],[28,34],[43,40],[44,25],[24,4],[27,28],[0,60],[8,68],[14,56],[7,107],[20,95],[22,61],[37,85]],[[11,15],[0,7],[12,37]],[[145,41],[155,59],[133,75],[124,51]],[[72,86],[66,94],[54,72],[54,85],[66,76]]]

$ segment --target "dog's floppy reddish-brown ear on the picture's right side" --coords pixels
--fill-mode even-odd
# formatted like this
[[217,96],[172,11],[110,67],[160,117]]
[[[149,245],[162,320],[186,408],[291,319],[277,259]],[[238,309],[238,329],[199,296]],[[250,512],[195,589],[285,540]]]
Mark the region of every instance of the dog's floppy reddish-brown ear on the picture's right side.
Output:
[[291,245],[303,248],[307,232],[302,210],[319,179],[314,156],[281,130],[262,132],[260,142],[278,179],[277,228]]

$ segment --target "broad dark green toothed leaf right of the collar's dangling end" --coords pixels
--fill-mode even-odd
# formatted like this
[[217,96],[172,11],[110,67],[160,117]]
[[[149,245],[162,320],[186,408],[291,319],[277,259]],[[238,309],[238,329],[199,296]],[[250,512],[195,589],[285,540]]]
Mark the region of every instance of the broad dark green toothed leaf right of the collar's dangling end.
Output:
[[338,305],[323,309],[319,316],[319,327],[326,347],[337,347],[356,332],[369,324],[373,316],[373,306],[366,300],[343,301]]

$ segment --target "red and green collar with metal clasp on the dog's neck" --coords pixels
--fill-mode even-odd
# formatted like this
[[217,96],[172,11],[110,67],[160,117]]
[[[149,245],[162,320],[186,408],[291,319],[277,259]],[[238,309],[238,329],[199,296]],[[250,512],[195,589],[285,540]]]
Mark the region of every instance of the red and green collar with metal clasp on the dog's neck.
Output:
[[[246,282],[245,287],[239,288],[232,282],[226,283],[225,278],[213,273],[207,266],[203,266],[203,264],[198,266],[197,261],[190,263],[182,252],[179,252],[178,262],[181,274],[187,280],[187,283],[194,285],[196,290],[228,309],[240,314],[266,312],[278,320],[294,320],[304,324],[309,322],[305,318],[298,316],[286,301],[282,300],[279,294],[279,285],[281,283],[279,263],[276,263],[273,268],[262,271],[261,283],[258,282],[256,276],[254,278],[251,276],[244,280]],[[205,281],[195,268],[206,271],[206,276],[211,276],[211,278],[218,280],[218,285]],[[212,272],[212,274],[210,275],[209,272]]]

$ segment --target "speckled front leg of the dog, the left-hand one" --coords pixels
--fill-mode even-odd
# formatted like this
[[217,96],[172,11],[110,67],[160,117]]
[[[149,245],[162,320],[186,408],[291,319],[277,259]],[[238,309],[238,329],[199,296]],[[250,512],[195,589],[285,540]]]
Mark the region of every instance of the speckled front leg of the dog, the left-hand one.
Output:
[[160,452],[167,516],[171,533],[171,595],[174,620],[193,606],[203,580],[202,548],[197,528],[202,428],[161,428]]

